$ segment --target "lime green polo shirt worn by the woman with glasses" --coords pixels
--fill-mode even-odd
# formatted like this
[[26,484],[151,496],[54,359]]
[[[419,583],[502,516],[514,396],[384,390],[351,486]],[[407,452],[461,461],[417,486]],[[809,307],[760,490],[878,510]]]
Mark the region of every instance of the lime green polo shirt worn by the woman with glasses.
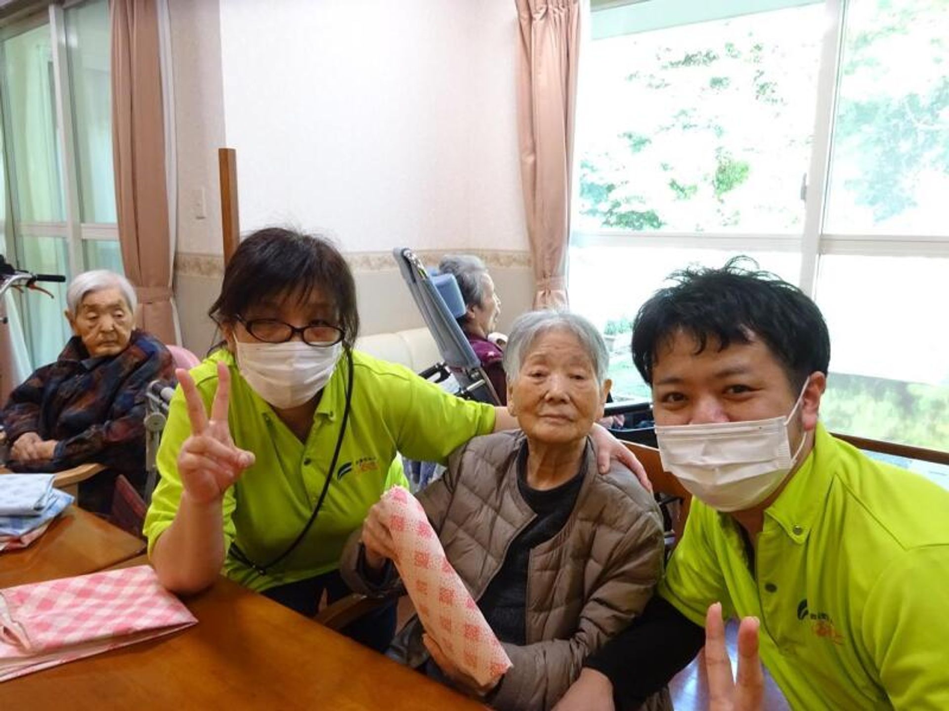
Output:
[[[347,366],[341,358],[323,390],[307,441],[301,442],[241,377],[233,356],[215,352],[192,372],[210,411],[217,388],[216,363],[231,370],[228,422],[234,444],[256,461],[224,495],[224,537],[258,564],[283,553],[309,520],[339,436]],[[404,482],[390,466],[397,450],[422,461],[444,462],[456,448],[494,427],[494,410],[442,391],[399,365],[353,353],[354,385],[349,424],[326,501],[307,537],[268,574],[228,556],[225,572],[251,590],[264,591],[335,570],[346,538],[385,489]],[[145,517],[151,552],[171,525],[181,498],[177,455],[191,434],[184,396],[177,389],[158,449],[161,478]]]

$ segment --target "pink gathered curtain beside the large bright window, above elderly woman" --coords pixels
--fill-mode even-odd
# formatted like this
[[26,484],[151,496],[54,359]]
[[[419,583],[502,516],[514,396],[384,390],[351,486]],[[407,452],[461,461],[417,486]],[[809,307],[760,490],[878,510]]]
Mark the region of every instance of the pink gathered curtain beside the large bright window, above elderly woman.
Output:
[[521,28],[518,133],[534,308],[567,306],[579,0],[515,0]]

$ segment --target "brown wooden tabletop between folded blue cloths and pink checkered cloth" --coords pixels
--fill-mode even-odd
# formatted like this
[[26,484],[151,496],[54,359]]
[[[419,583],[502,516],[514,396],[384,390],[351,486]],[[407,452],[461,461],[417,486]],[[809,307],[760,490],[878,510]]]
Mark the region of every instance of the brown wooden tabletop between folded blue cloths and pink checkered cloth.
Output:
[[144,550],[140,538],[69,506],[27,548],[0,553],[0,588],[94,573]]

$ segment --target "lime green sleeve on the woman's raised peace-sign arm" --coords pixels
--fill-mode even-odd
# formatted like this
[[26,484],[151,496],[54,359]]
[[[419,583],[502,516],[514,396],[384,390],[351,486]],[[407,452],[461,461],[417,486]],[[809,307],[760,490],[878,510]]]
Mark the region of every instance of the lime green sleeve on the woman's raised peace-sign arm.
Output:
[[[201,399],[204,400],[205,410],[211,411],[211,402],[214,399],[216,378],[207,378],[197,385]],[[178,387],[175,396],[168,406],[168,421],[161,432],[161,445],[158,447],[158,484],[152,494],[152,502],[145,514],[143,532],[148,538],[148,555],[152,555],[155,541],[164,533],[177,514],[178,503],[181,501],[181,477],[177,470],[177,456],[184,441],[191,436],[191,422],[188,420],[188,409],[184,394]],[[233,487],[224,495],[224,550],[231,547],[234,538],[233,510],[236,505]]]

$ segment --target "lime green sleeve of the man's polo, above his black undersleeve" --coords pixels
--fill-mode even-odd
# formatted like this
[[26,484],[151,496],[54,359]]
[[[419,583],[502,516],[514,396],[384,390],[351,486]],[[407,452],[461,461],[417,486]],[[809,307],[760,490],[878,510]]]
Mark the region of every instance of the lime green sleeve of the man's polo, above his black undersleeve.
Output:
[[659,585],[662,597],[703,628],[705,613],[714,602],[722,604],[726,617],[734,614],[718,556],[709,539],[711,527],[717,525],[716,512],[693,499],[682,539]]

